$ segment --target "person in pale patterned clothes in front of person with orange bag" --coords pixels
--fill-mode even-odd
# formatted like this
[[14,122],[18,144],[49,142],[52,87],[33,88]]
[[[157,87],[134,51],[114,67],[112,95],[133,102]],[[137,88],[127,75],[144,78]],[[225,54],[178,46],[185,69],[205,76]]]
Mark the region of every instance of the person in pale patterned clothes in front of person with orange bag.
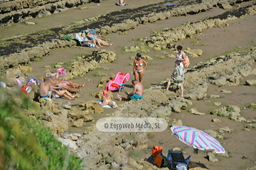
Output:
[[183,97],[183,81],[184,81],[184,72],[185,69],[181,67],[180,62],[177,60],[175,61],[175,69],[173,74],[171,74],[171,77],[167,83],[166,91],[169,91],[169,86],[171,85],[171,82],[176,84],[176,86],[181,87],[181,97]]

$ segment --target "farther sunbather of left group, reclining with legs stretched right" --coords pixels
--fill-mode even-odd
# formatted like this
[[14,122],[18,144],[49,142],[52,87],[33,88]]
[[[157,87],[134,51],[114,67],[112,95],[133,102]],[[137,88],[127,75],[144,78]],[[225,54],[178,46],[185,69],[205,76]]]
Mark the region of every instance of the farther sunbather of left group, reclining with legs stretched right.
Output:
[[[64,81],[64,83],[63,83],[63,80],[58,79],[57,74],[58,74],[58,73],[55,73],[55,74],[52,73],[52,74],[50,74],[50,83],[51,83],[53,86],[58,87],[58,88],[60,88],[60,89],[68,90],[68,91],[70,91],[71,93],[75,93],[75,94],[78,94],[78,93],[80,92],[80,85],[78,85],[78,91],[75,91],[75,90],[73,90],[73,89],[70,88],[70,86],[71,86],[70,82],[68,83],[68,84],[70,84],[70,85],[66,84],[65,81]],[[74,85],[74,84],[73,84],[73,85]],[[85,84],[82,84],[81,87],[83,87],[83,86],[85,86]]]

